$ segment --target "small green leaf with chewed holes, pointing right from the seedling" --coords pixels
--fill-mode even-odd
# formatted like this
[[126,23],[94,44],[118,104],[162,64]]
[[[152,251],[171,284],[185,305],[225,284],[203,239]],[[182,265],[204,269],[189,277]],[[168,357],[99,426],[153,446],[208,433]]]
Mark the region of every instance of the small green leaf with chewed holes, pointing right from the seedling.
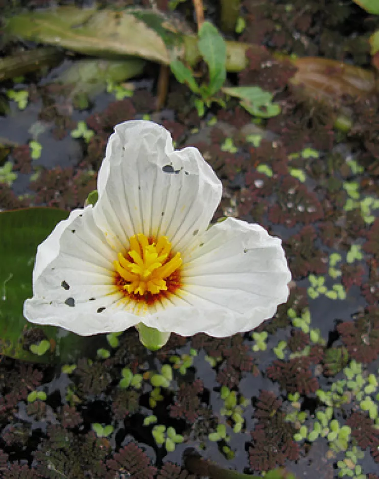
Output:
[[230,86],[222,91],[231,97],[240,98],[243,106],[255,117],[271,118],[280,113],[280,106],[272,103],[273,94],[259,86]]

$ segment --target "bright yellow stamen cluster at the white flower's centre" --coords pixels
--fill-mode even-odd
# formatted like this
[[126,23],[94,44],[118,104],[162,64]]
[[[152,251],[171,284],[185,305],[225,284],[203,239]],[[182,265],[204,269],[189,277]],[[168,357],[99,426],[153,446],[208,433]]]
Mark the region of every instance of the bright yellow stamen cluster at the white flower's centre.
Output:
[[[128,293],[151,294],[167,290],[165,278],[168,278],[182,264],[180,253],[169,261],[171,243],[165,236],[160,236],[156,242],[149,243],[149,239],[139,234],[129,239],[130,249],[126,257],[118,255],[114,267],[126,282],[124,289]],[[127,258],[130,258],[127,259]]]

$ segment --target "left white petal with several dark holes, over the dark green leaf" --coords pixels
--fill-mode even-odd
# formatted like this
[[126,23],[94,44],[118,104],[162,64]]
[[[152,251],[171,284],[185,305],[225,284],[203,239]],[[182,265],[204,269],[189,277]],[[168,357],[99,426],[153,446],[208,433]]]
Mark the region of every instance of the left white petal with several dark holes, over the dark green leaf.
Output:
[[38,248],[34,296],[25,302],[25,317],[82,335],[137,324],[138,316],[125,310],[113,284],[116,257],[93,221],[92,207],[73,211]]

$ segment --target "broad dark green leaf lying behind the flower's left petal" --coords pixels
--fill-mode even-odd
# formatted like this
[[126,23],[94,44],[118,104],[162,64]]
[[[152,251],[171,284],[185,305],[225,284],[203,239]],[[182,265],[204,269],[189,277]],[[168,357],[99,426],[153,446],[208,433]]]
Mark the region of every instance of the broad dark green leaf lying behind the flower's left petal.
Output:
[[33,295],[37,246],[68,212],[30,208],[0,213],[0,354],[35,362],[73,361],[96,352],[102,336],[83,337],[54,326],[29,323],[23,302]]

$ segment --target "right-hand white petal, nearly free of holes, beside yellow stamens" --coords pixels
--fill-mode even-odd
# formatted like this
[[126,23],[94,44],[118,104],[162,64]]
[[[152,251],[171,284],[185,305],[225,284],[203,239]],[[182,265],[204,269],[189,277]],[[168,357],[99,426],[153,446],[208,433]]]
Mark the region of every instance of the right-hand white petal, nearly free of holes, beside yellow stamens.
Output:
[[256,224],[228,218],[183,253],[177,307],[143,318],[181,335],[224,337],[257,327],[287,300],[291,273],[280,245]]

